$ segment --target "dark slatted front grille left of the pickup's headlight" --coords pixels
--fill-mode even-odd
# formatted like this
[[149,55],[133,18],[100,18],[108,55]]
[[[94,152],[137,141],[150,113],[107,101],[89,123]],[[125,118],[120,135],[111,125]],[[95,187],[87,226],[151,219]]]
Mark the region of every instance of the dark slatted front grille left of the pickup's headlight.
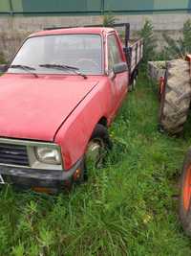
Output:
[[27,147],[0,143],[0,164],[29,166]]

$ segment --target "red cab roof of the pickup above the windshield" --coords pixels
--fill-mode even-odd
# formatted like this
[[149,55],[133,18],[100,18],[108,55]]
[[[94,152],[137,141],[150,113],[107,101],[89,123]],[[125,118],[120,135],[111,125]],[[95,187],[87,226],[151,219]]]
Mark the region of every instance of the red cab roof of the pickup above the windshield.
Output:
[[65,35],[65,34],[99,34],[102,33],[111,33],[114,32],[112,28],[105,27],[78,27],[78,28],[68,28],[68,29],[48,29],[44,31],[39,31],[29,35],[32,36],[40,36],[40,35]]

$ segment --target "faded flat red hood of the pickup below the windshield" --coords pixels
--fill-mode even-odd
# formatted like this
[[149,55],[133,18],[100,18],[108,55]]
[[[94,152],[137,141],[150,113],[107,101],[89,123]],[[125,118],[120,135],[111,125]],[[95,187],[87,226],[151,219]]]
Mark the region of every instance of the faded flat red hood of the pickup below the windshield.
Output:
[[53,141],[97,83],[79,76],[6,74],[0,78],[0,137]]

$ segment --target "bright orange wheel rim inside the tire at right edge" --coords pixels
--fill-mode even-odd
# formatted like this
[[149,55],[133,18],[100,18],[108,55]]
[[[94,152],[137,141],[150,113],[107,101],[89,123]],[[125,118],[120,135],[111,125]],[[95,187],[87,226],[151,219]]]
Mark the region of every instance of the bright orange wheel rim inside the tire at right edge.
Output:
[[183,184],[183,206],[187,211],[191,198],[191,166],[186,170],[185,180]]

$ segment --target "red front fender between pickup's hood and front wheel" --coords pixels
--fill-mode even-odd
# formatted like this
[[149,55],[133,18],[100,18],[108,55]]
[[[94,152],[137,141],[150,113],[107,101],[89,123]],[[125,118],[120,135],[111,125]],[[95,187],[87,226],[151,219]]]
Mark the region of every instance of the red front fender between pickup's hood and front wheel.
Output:
[[111,109],[109,84],[91,92],[78,105],[55,135],[61,146],[65,170],[69,170],[84,154],[96,124],[103,116],[109,118]]

